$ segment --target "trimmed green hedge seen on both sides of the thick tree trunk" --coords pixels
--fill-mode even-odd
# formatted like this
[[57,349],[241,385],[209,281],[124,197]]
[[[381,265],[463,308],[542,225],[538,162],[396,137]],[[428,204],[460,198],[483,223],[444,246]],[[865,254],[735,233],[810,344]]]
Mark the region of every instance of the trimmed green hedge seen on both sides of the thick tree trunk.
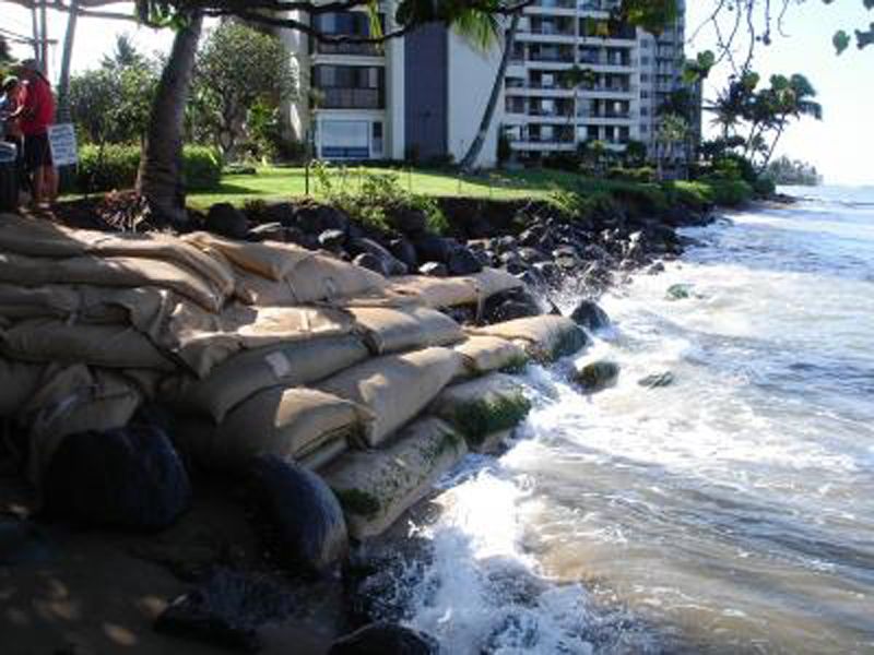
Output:
[[[96,145],[83,145],[79,151],[75,190],[96,193],[130,189],[137,182],[140,167],[139,145],[109,144],[103,151]],[[189,145],[184,151],[185,183],[189,191],[216,189],[222,180],[222,163],[214,150]]]

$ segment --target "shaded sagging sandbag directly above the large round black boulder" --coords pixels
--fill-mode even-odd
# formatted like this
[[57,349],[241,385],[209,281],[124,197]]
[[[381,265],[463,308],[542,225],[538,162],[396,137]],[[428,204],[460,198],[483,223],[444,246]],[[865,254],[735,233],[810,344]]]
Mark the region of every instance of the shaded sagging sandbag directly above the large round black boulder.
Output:
[[64,437],[123,427],[141,403],[137,386],[118,373],[83,365],[47,373],[19,414],[31,427],[31,480],[39,481]]

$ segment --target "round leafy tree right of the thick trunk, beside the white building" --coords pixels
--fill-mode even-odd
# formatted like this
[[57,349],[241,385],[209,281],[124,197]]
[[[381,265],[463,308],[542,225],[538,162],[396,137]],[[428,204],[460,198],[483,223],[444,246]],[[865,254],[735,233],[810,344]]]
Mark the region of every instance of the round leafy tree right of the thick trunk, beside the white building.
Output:
[[189,127],[225,157],[247,135],[275,155],[279,128],[271,111],[292,98],[294,88],[291,53],[280,39],[239,23],[222,23],[198,52]]

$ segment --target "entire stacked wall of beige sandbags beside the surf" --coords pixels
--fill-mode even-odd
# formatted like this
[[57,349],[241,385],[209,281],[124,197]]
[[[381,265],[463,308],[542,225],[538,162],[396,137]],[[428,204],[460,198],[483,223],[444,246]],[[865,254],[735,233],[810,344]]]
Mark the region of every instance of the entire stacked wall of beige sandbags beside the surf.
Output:
[[387,281],[284,243],[3,215],[0,416],[26,431],[38,481],[70,434],[158,402],[190,462],[235,474],[269,453],[316,469],[364,538],[523,418],[495,371],[584,341],[560,317],[471,331],[439,311],[520,285],[493,270]]

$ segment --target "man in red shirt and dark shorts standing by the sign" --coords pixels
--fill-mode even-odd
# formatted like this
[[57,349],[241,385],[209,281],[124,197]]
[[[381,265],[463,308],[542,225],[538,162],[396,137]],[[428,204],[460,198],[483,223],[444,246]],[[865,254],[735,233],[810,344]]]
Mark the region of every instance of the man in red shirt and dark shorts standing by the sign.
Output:
[[24,134],[24,164],[31,176],[33,203],[39,206],[54,203],[58,198],[58,174],[48,142],[48,127],[55,122],[55,95],[35,61],[22,62],[21,76],[24,93],[12,117],[19,119]]

